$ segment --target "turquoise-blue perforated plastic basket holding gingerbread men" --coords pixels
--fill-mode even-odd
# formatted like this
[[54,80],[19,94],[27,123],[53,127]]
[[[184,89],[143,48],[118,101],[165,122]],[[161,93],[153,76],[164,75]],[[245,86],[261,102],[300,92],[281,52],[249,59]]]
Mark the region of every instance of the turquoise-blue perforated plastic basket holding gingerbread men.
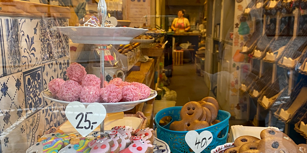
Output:
[[[157,126],[157,137],[160,140],[165,141],[171,150],[172,153],[190,153],[192,150],[185,142],[185,134],[188,131],[173,131],[169,130],[169,125],[173,121],[180,121],[180,111],[182,106],[169,107],[163,110],[160,110],[155,116],[155,123]],[[169,124],[161,127],[159,125],[159,121],[165,117],[171,116],[172,120]],[[210,153],[212,149],[214,149],[218,145],[222,145],[226,143],[228,127],[229,127],[229,118],[230,113],[227,111],[219,110],[217,115],[217,120],[220,120],[220,123],[217,123],[213,126],[209,126],[207,128],[195,130],[200,133],[202,131],[210,131],[213,135],[212,142],[202,151],[202,153]],[[219,132],[221,132],[219,134]],[[219,135],[219,136],[218,136]]]

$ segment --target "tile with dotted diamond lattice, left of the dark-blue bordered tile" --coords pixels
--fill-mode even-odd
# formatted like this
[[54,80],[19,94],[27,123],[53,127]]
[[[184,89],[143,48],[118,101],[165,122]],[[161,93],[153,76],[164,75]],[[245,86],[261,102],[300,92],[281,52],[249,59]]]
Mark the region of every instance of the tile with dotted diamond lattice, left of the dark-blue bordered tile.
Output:
[[25,95],[22,73],[0,79],[0,133],[25,120]]

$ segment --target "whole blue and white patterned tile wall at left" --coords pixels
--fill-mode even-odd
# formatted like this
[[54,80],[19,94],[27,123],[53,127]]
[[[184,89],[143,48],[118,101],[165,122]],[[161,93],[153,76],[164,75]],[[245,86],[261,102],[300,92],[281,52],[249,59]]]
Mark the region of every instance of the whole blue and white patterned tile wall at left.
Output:
[[65,120],[65,106],[44,99],[54,78],[66,80],[68,37],[50,30],[67,19],[0,17],[0,153],[25,152]]

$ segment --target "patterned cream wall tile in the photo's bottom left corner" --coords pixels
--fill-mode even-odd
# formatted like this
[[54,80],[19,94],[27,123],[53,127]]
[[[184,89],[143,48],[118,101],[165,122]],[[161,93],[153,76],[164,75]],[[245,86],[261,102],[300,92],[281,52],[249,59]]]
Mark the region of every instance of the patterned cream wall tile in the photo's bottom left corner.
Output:
[[[25,134],[25,123],[12,129],[7,135],[0,137],[2,152],[25,152],[27,150],[27,139]],[[1,151],[0,149],[0,151]]]

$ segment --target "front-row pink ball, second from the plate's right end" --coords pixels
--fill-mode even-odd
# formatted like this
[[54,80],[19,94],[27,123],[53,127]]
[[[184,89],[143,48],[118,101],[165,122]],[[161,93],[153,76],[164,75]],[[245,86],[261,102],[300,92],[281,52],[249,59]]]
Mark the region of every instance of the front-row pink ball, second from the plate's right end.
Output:
[[141,90],[134,85],[127,85],[122,87],[122,102],[130,102],[141,99]]

